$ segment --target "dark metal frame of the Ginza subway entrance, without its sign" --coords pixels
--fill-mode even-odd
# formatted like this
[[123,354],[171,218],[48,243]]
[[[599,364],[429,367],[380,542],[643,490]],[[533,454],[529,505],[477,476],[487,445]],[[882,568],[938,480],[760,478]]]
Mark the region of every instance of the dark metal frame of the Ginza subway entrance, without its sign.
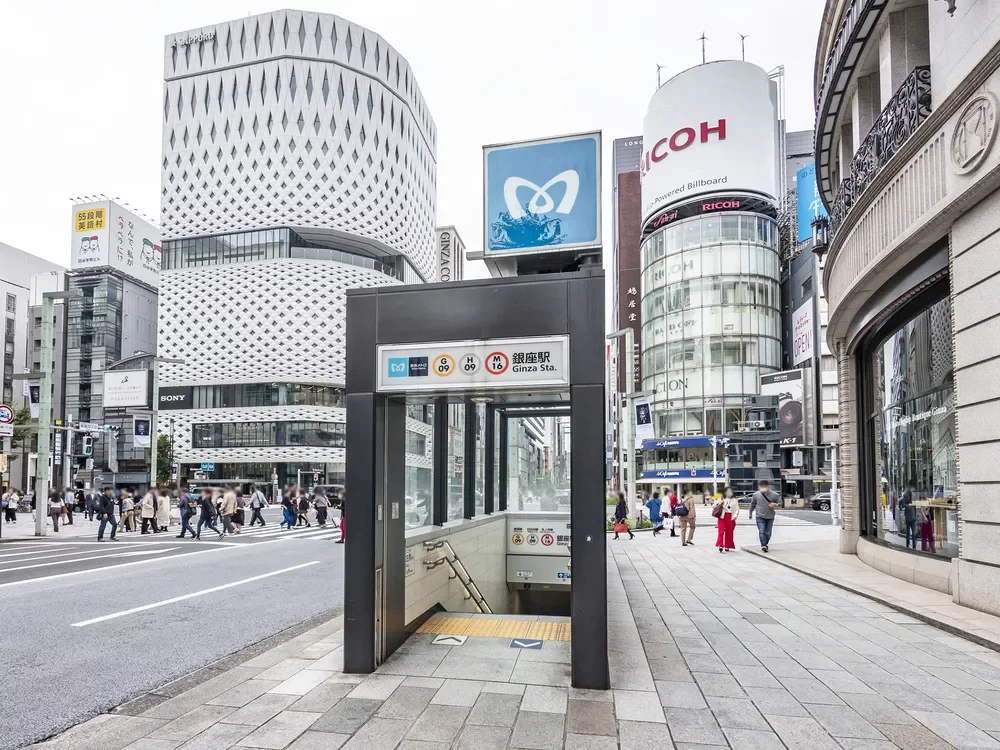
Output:
[[[569,336],[568,392],[484,389],[438,394],[450,401],[477,394],[488,410],[485,512],[493,512],[492,476],[500,470],[497,510],[506,509],[506,450],[494,467],[496,411],[515,404],[568,405],[572,418],[571,564],[572,684],[607,690],[608,613],[604,455],[604,273],[483,279],[388,286],[347,292],[347,493],[344,582],[344,671],[367,674],[409,636],[405,592],[405,394],[377,391],[377,347],[530,336]],[[421,397],[427,398],[427,393]],[[442,403],[438,401],[438,403]],[[435,410],[435,440],[438,412]],[[508,442],[500,421],[501,445]],[[435,453],[435,455],[437,455]],[[435,472],[435,494],[444,481]],[[445,488],[447,490],[447,488]],[[473,500],[466,493],[468,505]],[[435,507],[439,503],[434,503]],[[443,519],[435,513],[435,525]],[[580,585],[577,585],[580,584]]]

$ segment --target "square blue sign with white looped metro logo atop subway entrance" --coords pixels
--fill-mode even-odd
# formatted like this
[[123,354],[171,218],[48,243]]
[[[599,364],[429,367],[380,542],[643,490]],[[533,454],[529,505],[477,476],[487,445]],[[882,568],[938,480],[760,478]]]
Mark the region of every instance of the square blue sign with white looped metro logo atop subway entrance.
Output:
[[601,246],[601,134],[483,147],[483,254]]

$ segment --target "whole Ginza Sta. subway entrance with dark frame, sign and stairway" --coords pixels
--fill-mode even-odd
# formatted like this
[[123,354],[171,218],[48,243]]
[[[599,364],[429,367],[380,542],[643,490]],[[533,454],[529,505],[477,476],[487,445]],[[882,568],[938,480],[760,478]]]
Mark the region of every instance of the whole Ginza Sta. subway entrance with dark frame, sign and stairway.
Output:
[[[345,671],[375,671],[450,612],[484,620],[470,633],[528,614],[531,632],[569,634],[574,687],[608,689],[603,273],[350,290],[347,355]],[[483,436],[461,460],[454,405]],[[407,475],[415,407],[432,407],[437,466],[463,468],[457,486],[435,471],[423,497]],[[466,533],[475,565],[438,551]],[[437,557],[415,565],[424,550]],[[438,563],[467,595],[439,594],[423,569]]]

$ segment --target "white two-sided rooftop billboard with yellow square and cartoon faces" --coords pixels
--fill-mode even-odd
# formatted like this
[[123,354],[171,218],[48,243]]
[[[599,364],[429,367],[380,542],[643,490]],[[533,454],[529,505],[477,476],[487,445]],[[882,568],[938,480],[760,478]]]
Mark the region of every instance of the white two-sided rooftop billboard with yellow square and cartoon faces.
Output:
[[73,206],[70,268],[113,268],[159,287],[160,230],[114,201]]

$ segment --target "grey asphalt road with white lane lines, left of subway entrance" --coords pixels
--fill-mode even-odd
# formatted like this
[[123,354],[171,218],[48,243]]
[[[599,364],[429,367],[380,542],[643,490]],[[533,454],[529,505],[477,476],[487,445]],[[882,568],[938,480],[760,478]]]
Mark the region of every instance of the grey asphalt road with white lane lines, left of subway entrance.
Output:
[[[0,544],[0,748],[36,742],[342,609],[344,547],[305,531],[223,543],[171,533],[113,546]],[[93,559],[132,552],[149,554]],[[25,567],[67,559],[56,555],[73,562]]]

